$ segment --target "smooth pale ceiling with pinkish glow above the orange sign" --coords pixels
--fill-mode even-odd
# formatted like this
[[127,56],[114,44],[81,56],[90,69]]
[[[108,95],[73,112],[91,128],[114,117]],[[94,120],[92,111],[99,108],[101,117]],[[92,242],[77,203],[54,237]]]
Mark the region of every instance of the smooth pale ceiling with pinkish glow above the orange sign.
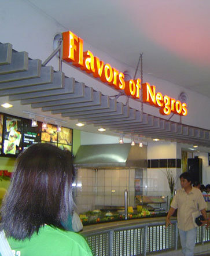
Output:
[[29,0],[64,30],[143,73],[210,98],[208,0]]

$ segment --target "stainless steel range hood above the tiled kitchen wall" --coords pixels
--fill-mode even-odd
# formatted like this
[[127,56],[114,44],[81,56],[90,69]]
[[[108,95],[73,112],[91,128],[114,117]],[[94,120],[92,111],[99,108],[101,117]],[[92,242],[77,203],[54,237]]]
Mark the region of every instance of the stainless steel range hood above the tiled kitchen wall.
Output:
[[76,168],[146,168],[147,146],[130,143],[83,145],[75,156]]

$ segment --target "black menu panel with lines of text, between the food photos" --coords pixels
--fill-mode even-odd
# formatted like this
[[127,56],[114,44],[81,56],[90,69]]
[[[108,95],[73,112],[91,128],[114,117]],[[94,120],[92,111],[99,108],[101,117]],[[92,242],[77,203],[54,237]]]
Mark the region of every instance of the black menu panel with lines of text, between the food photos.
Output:
[[23,149],[41,142],[41,129],[42,122],[38,122],[37,127],[31,127],[31,120],[23,120]]

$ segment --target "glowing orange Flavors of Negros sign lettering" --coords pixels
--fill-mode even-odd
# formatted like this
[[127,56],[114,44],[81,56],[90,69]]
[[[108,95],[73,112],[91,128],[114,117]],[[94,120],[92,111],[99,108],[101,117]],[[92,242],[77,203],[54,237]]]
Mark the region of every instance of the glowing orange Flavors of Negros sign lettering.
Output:
[[100,78],[102,82],[113,86],[115,89],[124,90],[128,96],[139,99],[139,90],[142,89],[143,102],[150,103],[160,108],[160,113],[169,115],[171,112],[180,116],[187,115],[187,104],[179,100],[170,98],[167,95],[156,93],[156,86],[148,82],[141,84],[141,79],[124,81],[124,74],[116,68],[104,63],[92,52],[83,52],[83,39],[73,34],[71,31],[62,33],[63,53],[62,59],[66,62],[72,62],[76,67],[93,74],[95,78]]

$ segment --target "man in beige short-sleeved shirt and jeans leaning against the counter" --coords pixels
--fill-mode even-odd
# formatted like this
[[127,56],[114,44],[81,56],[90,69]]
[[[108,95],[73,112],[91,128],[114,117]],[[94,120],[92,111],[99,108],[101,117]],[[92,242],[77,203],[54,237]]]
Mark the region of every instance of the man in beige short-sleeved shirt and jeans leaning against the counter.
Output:
[[[199,189],[191,186],[190,172],[183,172],[180,176],[182,189],[178,190],[172,200],[170,210],[166,217],[165,226],[171,224],[170,218],[177,211],[178,229],[182,253],[185,256],[193,256],[196,244],[197,228],[194,224],[193,213],[200,210],[204,219],[207,221],[207,204]],[[203,224],[204,225],[204,224]],[[207,227],[209,222],[207,222]]]

